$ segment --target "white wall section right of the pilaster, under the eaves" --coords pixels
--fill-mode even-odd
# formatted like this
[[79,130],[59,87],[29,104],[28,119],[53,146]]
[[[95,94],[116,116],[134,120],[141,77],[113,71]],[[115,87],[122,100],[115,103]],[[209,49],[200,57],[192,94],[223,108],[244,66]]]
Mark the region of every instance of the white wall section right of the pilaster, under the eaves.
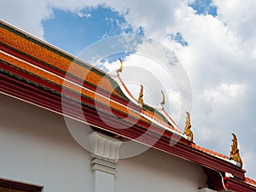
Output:
[[206,186],[201,168],[154,148],[136,157],[119,160],[115,188],[118,192],[197,192]]

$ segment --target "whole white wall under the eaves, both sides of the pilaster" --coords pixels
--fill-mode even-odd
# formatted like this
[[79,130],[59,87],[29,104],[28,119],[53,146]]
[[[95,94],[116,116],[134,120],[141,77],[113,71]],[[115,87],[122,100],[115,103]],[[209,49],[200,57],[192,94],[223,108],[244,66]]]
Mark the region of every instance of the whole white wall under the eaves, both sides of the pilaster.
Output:
[[[44,192],[94,190],[90,153],[76,143],[61,115],[1,94],[0,106],[0,177],[43,185]],[[201,166],[151,148],[118,161],[114,188],[197,192],[205,180]]]

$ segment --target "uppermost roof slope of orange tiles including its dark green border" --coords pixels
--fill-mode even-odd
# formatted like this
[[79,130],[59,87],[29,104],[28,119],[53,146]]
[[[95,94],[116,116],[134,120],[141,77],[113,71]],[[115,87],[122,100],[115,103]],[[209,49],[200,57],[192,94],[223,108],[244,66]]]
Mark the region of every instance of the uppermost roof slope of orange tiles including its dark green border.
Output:
[[[1,23],[1,44],[43,63],[44,66],[41,65],[39,67],[43,67],[49,72],[56,73],[63,78],[65,75],[70,75],[77,82],[85,80],[88,84],[97,87],[97,89],[100,87],[113,95],[120,96],[119,91],[113,88],[118,87],[118,85],[99,69],[79,61],[72,55],[63,54],[60,50],[53,49],[40,40],[33,39],[20,31],[9,28],[3,23]],[[87,75],[85,76],[85,74]],[[122,98],[126,99],[125,97]]]

